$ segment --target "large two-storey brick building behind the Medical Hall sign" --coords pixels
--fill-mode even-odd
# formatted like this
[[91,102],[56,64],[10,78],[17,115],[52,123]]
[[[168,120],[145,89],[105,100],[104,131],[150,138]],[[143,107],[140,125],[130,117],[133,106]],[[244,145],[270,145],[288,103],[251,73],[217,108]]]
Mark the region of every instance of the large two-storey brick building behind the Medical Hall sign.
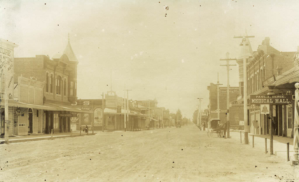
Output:
[[[248,104],[250,103],[250,95],[267,95],[273,86],[276,95],[294,94],[294,84],[289,84],[285,80],[291,78],[293,72],[298,70],[298,67],[294,68],[294,55],[295,52],[280,52],[270,46],[269,37],[262,41],[257,51],[246,54],[248,93],[246,98]],[[243,66],[242,60],[243,57],[237,60],[239,67]],[[242,85],[243,71],[239,70],[239,75],[240,85]],[[243,97],[242,93],[237,102],[241,104]],[[273,106],[274,135],[292,137],[293,104]],[[260,114],[260,110],[248,109],[248,126],[248,132],[269,134],[269,115]]]

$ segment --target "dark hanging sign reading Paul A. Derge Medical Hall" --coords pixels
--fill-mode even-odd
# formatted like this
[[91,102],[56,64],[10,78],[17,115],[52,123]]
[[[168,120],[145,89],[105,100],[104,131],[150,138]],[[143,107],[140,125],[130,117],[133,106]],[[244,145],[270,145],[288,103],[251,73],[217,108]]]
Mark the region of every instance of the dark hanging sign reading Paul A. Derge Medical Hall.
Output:
[[292,95],[250,95],[251,104],[290,104]]

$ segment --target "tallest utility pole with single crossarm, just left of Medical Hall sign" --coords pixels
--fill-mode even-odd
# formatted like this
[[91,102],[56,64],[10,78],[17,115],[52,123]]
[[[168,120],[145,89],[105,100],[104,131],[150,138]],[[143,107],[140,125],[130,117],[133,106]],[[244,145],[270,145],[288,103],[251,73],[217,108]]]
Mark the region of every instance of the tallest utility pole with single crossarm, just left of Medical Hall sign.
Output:
[[[246,33],[245,33],[246,34]],[[248,116],[247,116],[247,64],[246,64],[246,38],[252,38],[254,36],[234,36],[234,38],[242,38],[242,44],[240,46],[243,46],[243,100],[244,100],[244,143],[248,144]]]

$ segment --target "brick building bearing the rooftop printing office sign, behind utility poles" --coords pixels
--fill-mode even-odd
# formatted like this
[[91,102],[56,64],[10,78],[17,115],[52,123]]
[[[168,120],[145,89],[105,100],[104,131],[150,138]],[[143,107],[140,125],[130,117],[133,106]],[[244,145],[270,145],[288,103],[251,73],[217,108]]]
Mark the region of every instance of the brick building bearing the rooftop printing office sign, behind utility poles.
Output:
[[[217,118],[217,85],[210,83],[210,86],[207,87],[209,90],[209,118],[214,119]],[[238,87],[230,87],[229,98],[230,101],[235,101],[239,96]],[[227,109],[227,89],[226,87],[219,87],[219,109]],[[227,121],[226,112],[220,113],[220,121],[221,123],[225,123]],[[243,110],[238,107],[230,107],[229,108],[229,121],[231,128],[239,127],[239,121],[243,121]]]

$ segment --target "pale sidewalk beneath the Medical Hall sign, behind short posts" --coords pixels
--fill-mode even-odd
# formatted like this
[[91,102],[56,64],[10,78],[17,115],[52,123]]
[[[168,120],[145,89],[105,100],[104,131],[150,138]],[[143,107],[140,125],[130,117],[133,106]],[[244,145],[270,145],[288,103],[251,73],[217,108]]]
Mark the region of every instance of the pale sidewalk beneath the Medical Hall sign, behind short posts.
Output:
[[[244,144],[244,131],[242,132],[242,144]],[[240,131],[230,131],[230,135],[234,140],[241,144]],[[248,133],[248,140],[252,148],[252,133]],[[270,136],[269,135],[254,135],[254,148],[253,150],[259,150],[261,153],[265,154],[265,138],[267,138],[267,155],[276,156],[277,158],[287,161],[287,142],[289,142],[289,159],[290,164],[292,164],[292,158],[294,153],[293,148],[293,138],[273,136],[273,154],[270,155]]]

